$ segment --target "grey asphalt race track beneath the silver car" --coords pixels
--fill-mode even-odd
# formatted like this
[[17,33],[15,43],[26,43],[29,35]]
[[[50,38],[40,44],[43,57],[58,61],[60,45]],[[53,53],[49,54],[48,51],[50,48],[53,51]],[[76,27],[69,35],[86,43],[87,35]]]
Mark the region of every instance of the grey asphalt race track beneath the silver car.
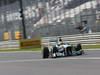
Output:
[[1,52],[0,75],[99,75],[100,49],[82,56],[42,59],[41,52]]

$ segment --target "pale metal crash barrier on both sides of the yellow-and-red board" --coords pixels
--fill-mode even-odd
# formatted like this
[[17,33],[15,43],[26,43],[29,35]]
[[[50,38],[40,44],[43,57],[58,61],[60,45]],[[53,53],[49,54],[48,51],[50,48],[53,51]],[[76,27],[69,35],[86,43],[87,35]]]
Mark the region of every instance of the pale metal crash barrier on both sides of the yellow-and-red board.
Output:
[[[57,37],[59,36],[43,37],[41,42],[42,46],[56,44]],[[71,44],[75,43],[82,43],[84,45],[100,44],[100,33],[64,35],[61,37],[63,38],[64,42],[68,42]],[[19,40],[0,42],[0,49],[19,49],[19,48],[20,48]]]

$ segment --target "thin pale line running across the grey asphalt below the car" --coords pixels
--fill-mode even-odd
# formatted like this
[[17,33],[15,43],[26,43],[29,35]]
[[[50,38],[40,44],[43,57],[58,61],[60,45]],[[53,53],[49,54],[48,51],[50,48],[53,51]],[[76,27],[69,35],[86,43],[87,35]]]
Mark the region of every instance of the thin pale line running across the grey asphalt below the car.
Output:
[[22,60],[5,60],[0,61],[0,63],[20,63],[20,62],[38,62],[38,61],[56,61],[56,60],[100,60],[100,57],[81,57],[81,58],[74,58],[74,57],[66,57],[66,58],[55,58],[55,59],[22,59]]

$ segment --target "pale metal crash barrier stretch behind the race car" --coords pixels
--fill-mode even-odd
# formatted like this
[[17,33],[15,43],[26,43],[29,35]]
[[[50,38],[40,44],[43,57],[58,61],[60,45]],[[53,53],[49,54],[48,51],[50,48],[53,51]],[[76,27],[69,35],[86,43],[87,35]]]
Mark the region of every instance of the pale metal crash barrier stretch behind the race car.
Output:
[[[56,40],[59,36],[54,37],[44,37],[42,40],[43,45],[54,44],[51,40]],[[64,42],[69,42],[71,44],[74,43],[82,43],[82,44],[100,44],[100,33],[92,33],[92,34],[76,34],[76,35],[64,35],[61,36]]]

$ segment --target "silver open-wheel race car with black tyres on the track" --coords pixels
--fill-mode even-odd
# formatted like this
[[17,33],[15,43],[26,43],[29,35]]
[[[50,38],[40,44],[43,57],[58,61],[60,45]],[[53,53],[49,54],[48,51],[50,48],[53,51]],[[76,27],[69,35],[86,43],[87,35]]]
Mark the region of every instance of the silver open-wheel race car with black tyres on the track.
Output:
[[43,48],[43,58],[56,58],[82,54],[84,54],[84,51],[82,50],[80,43],[78,43],[76,46],[69,43],[61,43],[52,47],[45,46]]

